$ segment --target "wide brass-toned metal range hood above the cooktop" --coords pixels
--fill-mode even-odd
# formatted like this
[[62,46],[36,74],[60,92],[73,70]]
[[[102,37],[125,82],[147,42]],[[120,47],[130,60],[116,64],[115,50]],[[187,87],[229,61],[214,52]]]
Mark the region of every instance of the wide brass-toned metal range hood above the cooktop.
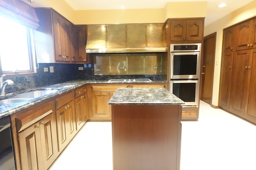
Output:
[[166,51],[164,23],[88,25],[86,53]]

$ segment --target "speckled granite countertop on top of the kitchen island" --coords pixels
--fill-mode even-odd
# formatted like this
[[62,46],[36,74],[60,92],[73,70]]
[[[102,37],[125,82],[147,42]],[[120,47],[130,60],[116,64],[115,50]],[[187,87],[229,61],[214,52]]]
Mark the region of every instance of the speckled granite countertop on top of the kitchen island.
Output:
[[165,88],[118,88],[108,104],[180,105],[185,103]]

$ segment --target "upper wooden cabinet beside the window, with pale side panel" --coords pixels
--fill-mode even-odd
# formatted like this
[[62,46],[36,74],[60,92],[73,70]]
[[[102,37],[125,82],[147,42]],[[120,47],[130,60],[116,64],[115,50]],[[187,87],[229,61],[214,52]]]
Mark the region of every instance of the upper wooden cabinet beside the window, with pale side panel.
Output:
[[34,31],[38,63],[72,63],[74,25],[52,8],[35,8],[40,27]]

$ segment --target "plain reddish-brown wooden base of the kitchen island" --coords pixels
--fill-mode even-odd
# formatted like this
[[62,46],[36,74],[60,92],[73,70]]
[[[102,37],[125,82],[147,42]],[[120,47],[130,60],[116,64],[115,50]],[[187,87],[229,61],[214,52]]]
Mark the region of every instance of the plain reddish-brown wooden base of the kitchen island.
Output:
[[114,170],[179,170],[180,105],[112,105]]

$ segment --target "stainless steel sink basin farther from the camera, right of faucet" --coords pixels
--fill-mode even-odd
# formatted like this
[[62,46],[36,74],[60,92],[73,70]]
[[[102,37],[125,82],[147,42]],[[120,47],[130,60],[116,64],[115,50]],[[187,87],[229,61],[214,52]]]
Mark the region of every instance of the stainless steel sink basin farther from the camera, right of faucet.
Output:
[[13,99],[35,99],[35,98],[39,98],[41,96],[45,96],[47,94],[51,94],[57,91],[58,90],[37,90],[37,91],[18,94],[16,96],[13,96],[12,98]]

